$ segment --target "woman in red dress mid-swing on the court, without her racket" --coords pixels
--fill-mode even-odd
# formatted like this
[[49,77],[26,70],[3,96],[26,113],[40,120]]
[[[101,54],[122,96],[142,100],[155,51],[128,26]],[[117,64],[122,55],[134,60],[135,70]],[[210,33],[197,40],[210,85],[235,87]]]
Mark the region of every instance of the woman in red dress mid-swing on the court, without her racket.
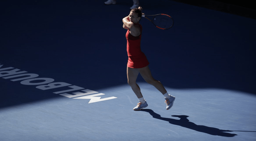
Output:
[[155,86],[163,95],[165,103],[167,104],[166,109],[170,109],[173,105],[175,97],[169,95],[160,81],[155,80],[148,67],[147,57],[140,49],[141,31],[142,26],[140,25],[140,18],[142,16],[142,8],[132,9],[130,14],[123,18],[123,28],[127,29],[125,37],[127,39],[127,79],[128,84],[132,87],[133,92],[139,99],[139,103],[133,110],[141,110],[148,106],[146,100],[143,98],[140,87],[136,83],[138,74],[149,84]]

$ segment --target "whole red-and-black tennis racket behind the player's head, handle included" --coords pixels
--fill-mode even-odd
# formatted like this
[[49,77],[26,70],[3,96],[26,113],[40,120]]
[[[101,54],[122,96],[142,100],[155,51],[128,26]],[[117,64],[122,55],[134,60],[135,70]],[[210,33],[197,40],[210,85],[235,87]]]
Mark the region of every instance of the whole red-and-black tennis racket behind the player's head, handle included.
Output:
[[157,28],[160,29],[169,29],[173,25],[173,19],[171,16],[166,14],[157,14],[157,15],[142,15],[142,17],[150,20]]

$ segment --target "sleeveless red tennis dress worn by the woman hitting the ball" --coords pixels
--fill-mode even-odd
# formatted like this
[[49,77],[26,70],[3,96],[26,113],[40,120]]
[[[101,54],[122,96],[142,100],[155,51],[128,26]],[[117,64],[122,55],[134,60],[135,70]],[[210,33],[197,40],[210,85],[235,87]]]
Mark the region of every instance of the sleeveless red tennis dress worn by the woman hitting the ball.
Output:
[[[140,25],[142,31],[142,26]],[[140,36],[132,36],[129,29],[127,30],[125,37],[127,39],[127,54],[128,54],[128,63],[127,67],[131,68],[142,68],[148,66],[149,62],[146,55],[141,52],[140,49]]]

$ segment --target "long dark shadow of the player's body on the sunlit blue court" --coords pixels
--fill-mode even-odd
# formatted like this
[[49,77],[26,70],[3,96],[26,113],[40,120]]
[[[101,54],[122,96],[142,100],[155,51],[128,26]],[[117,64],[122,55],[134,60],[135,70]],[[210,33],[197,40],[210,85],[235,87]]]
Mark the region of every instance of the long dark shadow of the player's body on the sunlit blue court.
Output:
[[168,121],[171,124],[179,125],[188,129],[196,130],[196,131],[207,133],[210,135],[223,136],[223,137],[234,137],[237,135],[237,134],[226,133],[226,132],[232,132],[231,130],[220,130],[218,128],[208,127],[204,125],[196,125],[195,123],[190,122],[187,119],[188,116],[185,116],[185,115],[181,115],[181,116],[173,115],[174,117],[179,117],[180,119],[178,120],[178,119],[161,117],[159,114],[155,113],[151,109],[142,109],[141,111],[148,112],[151,116],[153,116],[156,119]]

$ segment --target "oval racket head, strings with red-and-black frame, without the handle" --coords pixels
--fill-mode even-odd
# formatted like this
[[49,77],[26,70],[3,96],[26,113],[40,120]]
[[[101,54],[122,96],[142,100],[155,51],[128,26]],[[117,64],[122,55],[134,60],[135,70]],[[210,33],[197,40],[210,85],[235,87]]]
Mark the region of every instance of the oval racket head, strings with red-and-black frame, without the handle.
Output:
[[152,22],[161,29],[168,29],[173,25],[173,19],[168,15],[156,15]]

